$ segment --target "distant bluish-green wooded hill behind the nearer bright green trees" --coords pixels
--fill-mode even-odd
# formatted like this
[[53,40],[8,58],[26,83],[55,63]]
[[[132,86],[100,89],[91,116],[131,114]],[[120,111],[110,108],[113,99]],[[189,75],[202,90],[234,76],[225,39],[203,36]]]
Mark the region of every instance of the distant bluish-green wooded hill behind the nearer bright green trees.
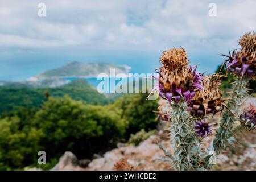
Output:
[[0,113],[12,111],[18,107],[35,108],[42,106],[47,97],[63,97],[88,104],[108,104],[107,98],[97,92],[85,80],[75,80],[56,88],[28,88],[23,86],[0,86]]

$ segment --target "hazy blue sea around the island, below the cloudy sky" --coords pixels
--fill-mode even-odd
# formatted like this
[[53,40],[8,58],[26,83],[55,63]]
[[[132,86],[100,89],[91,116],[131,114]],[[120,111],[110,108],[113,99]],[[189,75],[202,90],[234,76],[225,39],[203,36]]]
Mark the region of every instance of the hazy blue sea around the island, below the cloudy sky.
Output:
[[[39,75],[49,69],[61,67],[72,61],[82,63],[114,63],[126,64],[131,73],[153,73],[159,67],[161,51],[49,51],[40,52],[0,52],[0,81],[23,81]],[[191,64],[199,64],[199,71],[212,73],[221,64],[222,57],[212,55],[191,54]],[[88,80],[89,82],[90,79]],[[92,83],[93,84],[93,83]]]

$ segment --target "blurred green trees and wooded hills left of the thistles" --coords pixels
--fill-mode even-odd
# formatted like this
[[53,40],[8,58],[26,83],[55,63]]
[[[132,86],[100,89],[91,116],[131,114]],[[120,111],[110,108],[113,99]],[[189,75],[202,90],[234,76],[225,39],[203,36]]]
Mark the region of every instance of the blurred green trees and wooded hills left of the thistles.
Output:
[[51,169],[65,151],[90,159],[157,125],[157,102],[147,94],[113,101],[84,80],[58,88],[0,87],[0,93],[0,170],[38,166],[41,150],[47,154],[42,169]]

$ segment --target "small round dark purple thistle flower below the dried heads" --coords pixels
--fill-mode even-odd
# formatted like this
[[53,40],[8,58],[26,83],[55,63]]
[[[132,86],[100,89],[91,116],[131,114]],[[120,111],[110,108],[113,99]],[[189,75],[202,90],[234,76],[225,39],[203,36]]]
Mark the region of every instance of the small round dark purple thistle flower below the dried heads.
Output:
[[195,123],[196,135],[204,138],[208,137],[210,134],[212,134],[212,129],[210,129],[211,126],[213,125],[205,121],[205,119],[202,119],[201,121],[196,121]]

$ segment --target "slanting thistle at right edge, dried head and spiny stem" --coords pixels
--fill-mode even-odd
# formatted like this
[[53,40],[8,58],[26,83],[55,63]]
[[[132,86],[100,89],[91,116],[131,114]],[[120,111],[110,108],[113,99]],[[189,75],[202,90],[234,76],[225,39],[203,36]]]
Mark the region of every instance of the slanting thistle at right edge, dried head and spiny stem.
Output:
[[221,118],[221,125],[214,139],[214,148],[218,154],[225,150],[226,144],[232,144],[233,126],[237,122],[237,113],[245,100],[248,88],[247,84],[251,78],[255,78],[256,74],[256,34],[247,33],[240,40],[241,49],[233,52],[232,55],[226,56],[226,70],[234,75],[233,88],[229,92],[229,110],[224,110]]

